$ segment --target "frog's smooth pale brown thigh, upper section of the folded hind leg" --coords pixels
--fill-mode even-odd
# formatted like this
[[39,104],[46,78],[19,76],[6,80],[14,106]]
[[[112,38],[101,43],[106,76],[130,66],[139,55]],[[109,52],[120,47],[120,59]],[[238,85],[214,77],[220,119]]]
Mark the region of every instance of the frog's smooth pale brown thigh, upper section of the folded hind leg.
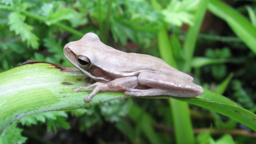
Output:
[[185,97],[188,97],[190,94],[191,96],[200,95],[203,92],[203,88],[201,86],[188,80],[148,71],[141,72],[138,76],[138,81],[140,84],[147,85],[152,88],[168,90],[172,91],[172,93],[176,92],[177,95],[184,93]]

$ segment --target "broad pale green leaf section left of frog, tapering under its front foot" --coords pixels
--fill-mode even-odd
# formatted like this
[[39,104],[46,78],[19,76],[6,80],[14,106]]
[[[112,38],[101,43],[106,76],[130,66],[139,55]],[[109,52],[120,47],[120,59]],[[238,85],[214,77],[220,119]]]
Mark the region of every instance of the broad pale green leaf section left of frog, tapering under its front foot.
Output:
[[124,97],[120,92],[100,92],[90,102],[84,102],[88,91],[73,92],[73,88],[85,85],[85,75],[77,69],[63,71],[63,68],[31,63],[0,73],[0,132],[30,114],[85,108]]

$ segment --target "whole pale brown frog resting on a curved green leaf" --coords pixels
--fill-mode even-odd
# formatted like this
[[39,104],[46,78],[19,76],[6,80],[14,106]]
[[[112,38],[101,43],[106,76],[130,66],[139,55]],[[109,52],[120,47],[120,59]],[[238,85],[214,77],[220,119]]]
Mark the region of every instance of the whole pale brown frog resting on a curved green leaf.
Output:
[[132,96],[196,97],[203,88],[192,83],[193,77],[171,67],[163,60],[138,53],[126,53],[103,44],[94,33],[69,42],[64,55],[96,83],[74,91],[94,88],[86,102],[99,91],[124,92]]

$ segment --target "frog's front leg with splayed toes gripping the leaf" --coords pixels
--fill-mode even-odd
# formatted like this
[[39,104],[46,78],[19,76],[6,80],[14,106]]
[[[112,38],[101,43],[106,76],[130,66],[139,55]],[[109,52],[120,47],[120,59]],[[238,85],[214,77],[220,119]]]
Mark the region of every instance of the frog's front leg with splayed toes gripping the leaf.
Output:
[[94,88],[93,91],[88,96],[86,96],[84,98],[84,101],[86,101],[86,102],[89,102],[92,99],[92,97],[95,96],[100,91],[102,91],[102,92],[124,92],[123,89],[116,88],[116,87],[110,87],[109,84],[112,84],[112,83],[119,84],[119,85],[122,85],[124,87],[129,87],[129,88],[134,88],[139,84],[137,76],[129,76],[129,77],[117,78],[108,83],[96,82],[96,83],[91,84],[86,87],[80,86],[80,87],[73,89],[73,91],[78,92],[80,90],[88,90],[88,89]]

